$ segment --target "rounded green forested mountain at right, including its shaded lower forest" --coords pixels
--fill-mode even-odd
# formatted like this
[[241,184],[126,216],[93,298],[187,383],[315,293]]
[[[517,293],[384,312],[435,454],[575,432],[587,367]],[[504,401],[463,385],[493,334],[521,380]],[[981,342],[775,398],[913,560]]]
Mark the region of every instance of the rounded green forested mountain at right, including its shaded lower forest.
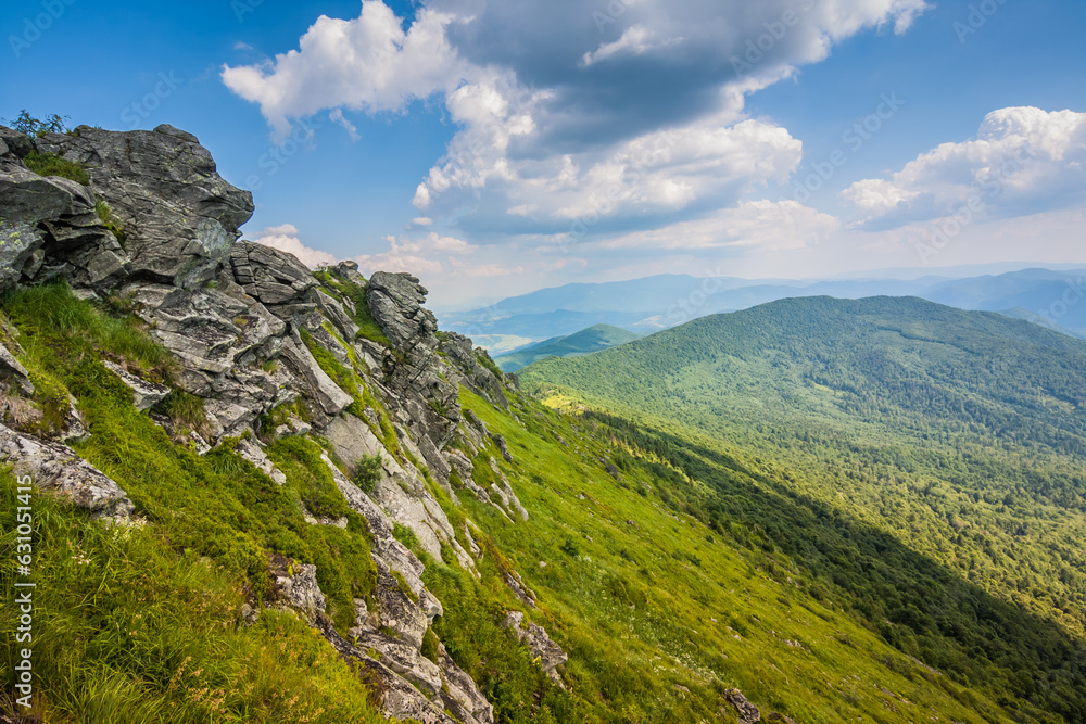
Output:
[[[1086,690],[1071,663],[1086,655],[1086,342],[919,299],[812,297],[519,378],[656,452],[694,481],[685,509],[759,525],[900,650],[1086,721],[1071,695]],[[757,485],[736,480],[752,469]],[[1034,663],[984,670],[997,660]]]

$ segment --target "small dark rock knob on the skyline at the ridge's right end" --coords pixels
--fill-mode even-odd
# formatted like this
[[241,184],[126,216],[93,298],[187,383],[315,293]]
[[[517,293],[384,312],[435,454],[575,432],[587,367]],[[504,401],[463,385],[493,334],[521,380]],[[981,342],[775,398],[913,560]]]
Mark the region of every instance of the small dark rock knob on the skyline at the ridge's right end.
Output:
[[375,271],[369,278],[369,312],[393,346],[405,354],[437,345],[438,320],[422,306],[428,293],[409,274]]

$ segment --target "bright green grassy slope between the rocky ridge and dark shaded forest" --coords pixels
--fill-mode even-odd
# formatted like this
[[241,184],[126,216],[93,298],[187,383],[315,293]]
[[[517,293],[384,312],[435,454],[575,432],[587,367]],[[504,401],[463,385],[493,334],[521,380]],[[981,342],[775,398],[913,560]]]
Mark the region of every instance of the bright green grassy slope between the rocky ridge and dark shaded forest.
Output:
[[569,652],[583,708],[572,721],[735,721],[722,698],[730,686],[763,714],[800,722],[921,722],[935,712],[1003,721],[983,697],[811,597],[786,557],[743,548],[672,511],[658,497],[668,484],[647,460],[630,458],[619,482],[598,461],[619,449],[576,420],[525,401],[526,430],[464,398],[508,441],[515,463],[501,466],[531,519],[513,524],[462,500],[540,595],[536,618]]

